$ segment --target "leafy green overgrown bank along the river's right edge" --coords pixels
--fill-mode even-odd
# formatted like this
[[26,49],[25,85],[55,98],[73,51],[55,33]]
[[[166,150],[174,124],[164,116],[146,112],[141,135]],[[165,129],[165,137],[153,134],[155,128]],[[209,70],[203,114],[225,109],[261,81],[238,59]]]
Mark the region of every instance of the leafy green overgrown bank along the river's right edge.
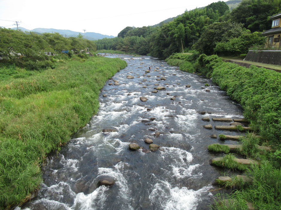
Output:
[[[251,66],[241,67],[225,63],[217,55],[193,53],[174,54],[168,64],[180,70],[198,72],[212,78],[221,89],[244,108],[250,126],[263,138],[247,135],[242,140],[243,155],[260,161],[250,166],[246,174],[253,182],[243,189],[235,189],[231,196],[233,205],[216,205],[216,209],[247,209],[246,201],[256,209],[280,209],[281,206],[281,74],[273,70]],[[265,152],[257,146],[271,146],[276,152]],[[221,195],[218,195],[221,199]],[[218,204],[218,203],[217,203]]]

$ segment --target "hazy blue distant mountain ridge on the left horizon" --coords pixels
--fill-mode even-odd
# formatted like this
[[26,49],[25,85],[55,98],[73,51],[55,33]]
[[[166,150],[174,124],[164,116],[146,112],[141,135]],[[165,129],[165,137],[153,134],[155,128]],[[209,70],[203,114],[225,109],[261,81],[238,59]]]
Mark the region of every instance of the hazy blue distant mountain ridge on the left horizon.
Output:
[[[16,30],[16,28],[12,28],[14,30]],[[32,31],[35,33],[60,33],[61,35],[66,37],[77,37],[77,35],[81,32],[76,32],[76,31],[71,31],[71,30],[60,30],[60,29],[54,29],[54,28],[35,28],[33,30],[27,30],[23,27],[19,27],[20,30],[22,31]],[[102,39],[102,38],[114,38],[115,36],[109,36],[109,35],[103,35],[100,33],[94,33],[94,32],[86,32],[81,33],[84,38],[88,39],[88,40],[98,40],[98,39]]]

